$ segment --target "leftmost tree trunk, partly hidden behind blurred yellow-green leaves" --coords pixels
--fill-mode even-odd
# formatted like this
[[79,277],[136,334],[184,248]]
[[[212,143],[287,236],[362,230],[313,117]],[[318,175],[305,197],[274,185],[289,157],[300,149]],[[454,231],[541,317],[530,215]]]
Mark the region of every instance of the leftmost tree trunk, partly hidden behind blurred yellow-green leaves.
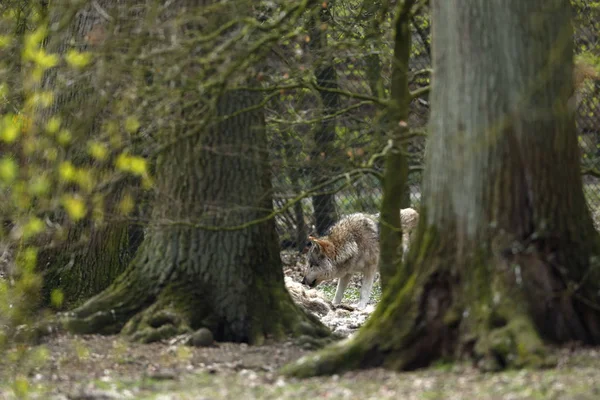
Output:
[[[103,12],[115,14],[117,3],[114,0],[100,0],[96,5]],[[49,25],[58,25],[65,18],[63,6],[48,5]],[[108,31],[106,16],[92,5],[81,7],[66,29],[52,31],[47,41],[47,50],[51,53],[64,55],[70,48],[78,51],[92,51],[99,59],[109,58],[105,46],[94,43],[90,37],[94,31]],[[129,16],[130,17],[130,16]],[[115,25],[122,23],[123,15],[118,15]],[[128,32],[122,32],[119,39]],[[87,141],[98,135],[99,126],[106,120],[106,111],[112,105],[112,100],[102,95],[103,76],[99,71],[88,73],[83,77],[77,75],[69,67],[57,67],[46,74],[43,82],[46,90],[52,90],[56,101],[43,114],[44,119],[58,115],[63,124],[72,132],[79,132],[73,145],[67,149],[68,158],[78,167],[99,168],[86,155]],[[116,77],[115,80],[122,77]],[[66,81],[74,84],[65,85]],[[112,90],[116,91],[117,85]],[[128,180],[118,184],[105,196],[104,203],[109,214],[118,214],[118,203],[124,189],[131,190],[137,183]],[[64,189],[64,188],[63,188]],[[138,205],[138,208],[141,207]],[[58,214],[58,213],[57,213]],[[62,307],[70,307],[98,294],[107,288],[127,267],[139,245],[139,237],[143,235],[139,227],[124,221],[107,221],[100,225],[86,217],[83,221],[70,224],[64,214],[53,215],[54,222],[67,226],[64,242],[55,247],[45,249],[38,257],[39,270],[44,274],[42,304],[50,304],[50,294],[59,289],[64,295]]]

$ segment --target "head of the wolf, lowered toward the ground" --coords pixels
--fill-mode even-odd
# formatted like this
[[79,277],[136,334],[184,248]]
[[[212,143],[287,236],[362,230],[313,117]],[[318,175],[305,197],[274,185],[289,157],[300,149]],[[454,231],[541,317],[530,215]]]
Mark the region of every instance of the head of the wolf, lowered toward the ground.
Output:
[[302,284],[312,288],[333,277],[335,245],[328,238],[317,239],[309,236],[305,252],[308,265]]

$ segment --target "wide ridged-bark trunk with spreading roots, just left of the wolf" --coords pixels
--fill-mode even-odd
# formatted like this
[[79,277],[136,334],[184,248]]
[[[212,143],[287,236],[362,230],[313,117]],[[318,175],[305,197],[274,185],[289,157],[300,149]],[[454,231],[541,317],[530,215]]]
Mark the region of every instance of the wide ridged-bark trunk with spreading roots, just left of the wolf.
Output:
[[229,118],[164,150],[155,224],[125,274],[68,316],[68,328],[124,328],[141,341],[200,327],[250,343],[325,333],[283,284],[259,102],[254,92],[228,92],[217,111]]

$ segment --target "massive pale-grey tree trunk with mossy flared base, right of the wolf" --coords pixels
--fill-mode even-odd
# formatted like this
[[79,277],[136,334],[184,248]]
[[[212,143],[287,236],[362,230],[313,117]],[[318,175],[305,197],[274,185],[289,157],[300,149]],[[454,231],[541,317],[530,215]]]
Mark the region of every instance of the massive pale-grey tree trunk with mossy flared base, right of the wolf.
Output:
[[567,0],[433,3],[431,137],[416,242],[351,341],[306,376],[471,358],[548,365],[545,343],[600,343],[600,246],[567,100]]

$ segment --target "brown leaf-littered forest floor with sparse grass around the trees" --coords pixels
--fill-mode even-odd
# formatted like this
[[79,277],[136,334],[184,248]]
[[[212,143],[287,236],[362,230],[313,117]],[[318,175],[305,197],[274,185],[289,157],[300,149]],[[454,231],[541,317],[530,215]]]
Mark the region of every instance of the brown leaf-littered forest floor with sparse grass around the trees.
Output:
[[[356,301],[358,288],[354,281],[346,303]],[[319,289],[331,298],[335,285]],[[379,293],[374,291],[373,303]],[[600,349],[557,349],[559,364],[547,370],[481,373],[454,363],[416,372],[372,369],[306,380],[279,375],[283,365],[310,351],[293,342],[197,348],[131,343],[119,336],[62,335],[2,355],[0,399],[600,398]]]

